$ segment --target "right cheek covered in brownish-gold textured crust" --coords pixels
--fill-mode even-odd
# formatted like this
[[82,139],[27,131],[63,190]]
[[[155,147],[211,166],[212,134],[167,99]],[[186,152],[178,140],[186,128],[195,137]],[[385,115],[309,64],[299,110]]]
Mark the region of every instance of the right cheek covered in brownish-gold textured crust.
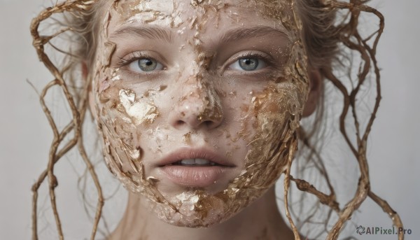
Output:
[[253,137],[247,144],[246,184],[269,187],[286,166],[302,111],[299,92],[295,85],[281,83],[252,97],[248,119],[252,119]]

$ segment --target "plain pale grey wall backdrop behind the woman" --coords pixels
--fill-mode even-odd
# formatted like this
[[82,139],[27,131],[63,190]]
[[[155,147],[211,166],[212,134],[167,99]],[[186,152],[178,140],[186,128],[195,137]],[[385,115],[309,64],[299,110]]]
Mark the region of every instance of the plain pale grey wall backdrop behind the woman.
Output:
[[[48,160],[52,133],[26,80],[40,90],[52,79],[38,62],[29,34],[31,18],[51,2],[0,0],[0,239],[31,238],[31,185]],[[406,239],[420,239],[420,1],[377,0],[370,5],[386,18],[377,54],[383,99],[369,141],[371,185],[412,230]],[[391,226],[370,200],[360,211],[356,224]]]

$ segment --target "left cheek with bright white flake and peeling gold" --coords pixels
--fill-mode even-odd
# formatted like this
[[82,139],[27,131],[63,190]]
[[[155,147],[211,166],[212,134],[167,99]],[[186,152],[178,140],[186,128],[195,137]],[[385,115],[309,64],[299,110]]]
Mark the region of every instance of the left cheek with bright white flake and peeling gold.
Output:
[[[143,175],[141,138],[147,135],[160,112],[152,97],[137,94],[122,85],[120,80],[108,82],[99,82],[95,91],[97,121],[104,138],[106,162],[114,174]],[[109,85],[105,90],[104,84]]]

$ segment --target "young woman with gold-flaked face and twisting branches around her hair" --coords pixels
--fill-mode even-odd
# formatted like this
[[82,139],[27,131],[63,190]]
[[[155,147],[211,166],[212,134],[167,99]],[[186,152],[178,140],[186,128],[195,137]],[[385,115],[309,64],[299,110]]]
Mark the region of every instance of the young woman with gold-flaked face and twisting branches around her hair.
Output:
[[[343,17],[335,24],[338,9],[349,9],[349,20]],[[299,239],[288,212],[290,180],[337,213],[329,239],[337,239],[367,196],[400,224],[369,188],[365,143],[374,114],[360,130],[353,111],[356,144],[344,126],[371,66],[377,71],[374,48],[382,26],[371,48],[357,31],[361,11],[381,19],[361,1],[64,1],[48,8],[32,24],[34,45],[56,78],[45,91],[52,85],[63,88],[73,121],[58,132],[49,118],[57,144],[34,185],[34,202],[48,176],[62,237],[54,164],[78,144],[99,193],[94,238],[103,198],[82,142],[89,107],[106,165],[130,192],[125,215],[109,239]],[[51,37],[38,33],[41,21],[66,12],[71,13],[68,27]],[[71,64],[57,68],[43,45],[67,31],[79,36],[73,41],[78,50],[67,52]],[[332,68],[339,42],[362,55],[352,91]],[[71,91],[67,85],[74,80],[75,66],[85,84]],[[344,95],[340,127],[360,164],[356,195],[342,209],[333,189],[327,195],[290,175],[298,139],[302,148],[311,149],[314,134],[300,128],[300,120],[312,115],[317,104],[322,110],[324,78]],[[70,131],[75,137],[60,150]],[[291,230],[276,206],[274,183],[281,174]],[[35,214],[34,238],[36,232]]]

